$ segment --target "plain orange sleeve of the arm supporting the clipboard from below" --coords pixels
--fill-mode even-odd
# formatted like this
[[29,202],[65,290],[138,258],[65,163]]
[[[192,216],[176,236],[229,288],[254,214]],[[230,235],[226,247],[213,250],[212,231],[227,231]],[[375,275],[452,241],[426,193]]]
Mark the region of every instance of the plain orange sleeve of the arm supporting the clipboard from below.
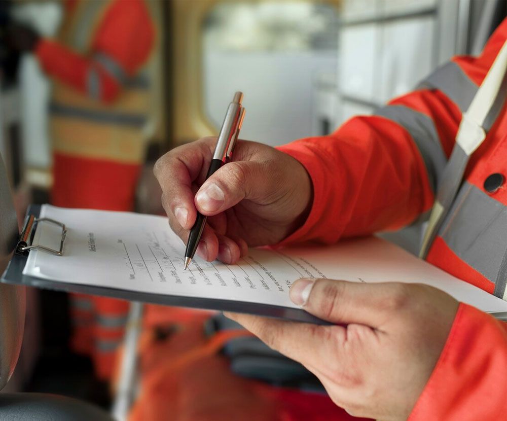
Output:
[[507,323],[461,303],[442,354],[408,421],[507,417]]

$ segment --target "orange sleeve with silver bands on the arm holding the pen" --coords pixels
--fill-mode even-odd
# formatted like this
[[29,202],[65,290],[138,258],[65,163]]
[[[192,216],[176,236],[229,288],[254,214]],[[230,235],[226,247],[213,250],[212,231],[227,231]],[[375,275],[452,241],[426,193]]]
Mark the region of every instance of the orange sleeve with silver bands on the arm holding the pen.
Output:
[[[479,85],[505,38],[507,19],[479,57],[452,63]],[[303,164],[314,189],[306,223],[282,244],[332,243],[396,229],[428,211],[461,121],[458,99],[434,87],[419,89],[393,99],[378,115],[348,120],[329,136],[279,147]]]

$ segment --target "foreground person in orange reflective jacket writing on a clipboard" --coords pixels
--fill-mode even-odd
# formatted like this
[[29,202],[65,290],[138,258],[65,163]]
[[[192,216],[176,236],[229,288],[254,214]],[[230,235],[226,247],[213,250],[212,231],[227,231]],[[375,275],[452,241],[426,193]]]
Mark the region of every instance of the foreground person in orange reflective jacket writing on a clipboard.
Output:
[[[234,161],[208,180],[214,138],[168,152],[154,170],[171,228],[186,241],[197,211],[208,216],[199,255],[234,264],[247,246],[334,243],[406,226],[442,203],[437,186],[461,182],[464,173],[426,259],[507,299],[505,85],[482,127],[466,114],[495,58],[502,62],[506,53],[507,19],[480,56],[455,57],[375,115],[277,149],[240,141]],[[455,139],[474,130],[487,135],[467,161],[467,143]],[[395,280],[297,280],[294,303],[332,326],[230,317],[302,363],[354,416],[505,419],[507,323],[438,289]],[[318,412],[310,405],[282,419],[312,419],[312,408]]]

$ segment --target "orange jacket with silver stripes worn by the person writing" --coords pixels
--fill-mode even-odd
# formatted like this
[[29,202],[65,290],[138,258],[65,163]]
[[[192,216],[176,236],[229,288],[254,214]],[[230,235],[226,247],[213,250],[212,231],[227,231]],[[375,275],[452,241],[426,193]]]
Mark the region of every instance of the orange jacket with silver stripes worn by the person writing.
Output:
[[[429,211],[443,183],[462,114],[506,39],[507,19],[479,57],[453,58],[416,91],[393,99],[371,117],[352,118],[329,136],[280,147],[305,166],[314,188],[307,222],[284,243],[332,243],[396,229]],[[427,254],[428,262],[503,299],[506,82],[507,77],[484,123],[486,139],[468,161]],[[460,153],[456,146],[453,155]],[[429,419],[507,419],[506,323],[460,304],[442,355],[409,417]]]

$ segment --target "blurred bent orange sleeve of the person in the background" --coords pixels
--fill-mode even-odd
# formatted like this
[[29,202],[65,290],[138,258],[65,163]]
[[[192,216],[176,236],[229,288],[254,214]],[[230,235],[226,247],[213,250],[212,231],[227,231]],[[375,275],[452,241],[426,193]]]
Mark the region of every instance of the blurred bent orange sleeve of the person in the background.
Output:
[[[35,54],[47,74],[85,95],[109,102],[147,60],[154,40],[155,28],[143,1],[115,0],[97,26],[89,56],[48,39],[39,42]],[[106,56],[112,65],[96,60],[97,54]],[[95,78],[93,87],[91,77]]]

